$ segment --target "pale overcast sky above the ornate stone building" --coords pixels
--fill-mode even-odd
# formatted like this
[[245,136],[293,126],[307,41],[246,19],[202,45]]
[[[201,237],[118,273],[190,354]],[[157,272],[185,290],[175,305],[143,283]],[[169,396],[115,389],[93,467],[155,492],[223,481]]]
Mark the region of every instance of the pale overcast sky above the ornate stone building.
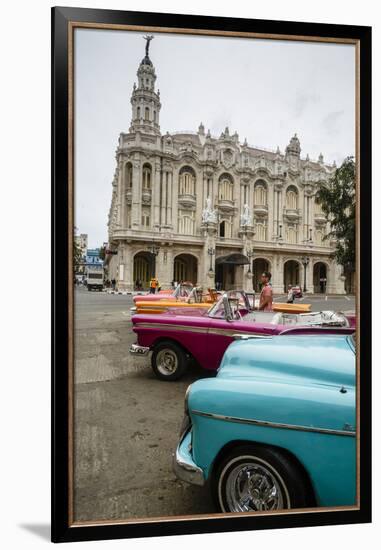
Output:
[[[128,132],[130,97],[144,33],[75,31],[75,224],[89,247],[107,240],[115,150]],[[355,51],[351,45],[154,35],[150,58],[161,132],[212,135],[284,151],[299,136],[302,157],[339,164],[355,148]]]

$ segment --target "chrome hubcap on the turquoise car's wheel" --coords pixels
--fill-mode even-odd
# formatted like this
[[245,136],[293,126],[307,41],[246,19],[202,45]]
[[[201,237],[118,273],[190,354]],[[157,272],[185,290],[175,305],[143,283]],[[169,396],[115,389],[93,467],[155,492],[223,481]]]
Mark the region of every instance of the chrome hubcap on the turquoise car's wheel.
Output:
[[226,501],[230,512],[284,508],[280,483],[274,472],[255,462],[241,463],[228,474]]

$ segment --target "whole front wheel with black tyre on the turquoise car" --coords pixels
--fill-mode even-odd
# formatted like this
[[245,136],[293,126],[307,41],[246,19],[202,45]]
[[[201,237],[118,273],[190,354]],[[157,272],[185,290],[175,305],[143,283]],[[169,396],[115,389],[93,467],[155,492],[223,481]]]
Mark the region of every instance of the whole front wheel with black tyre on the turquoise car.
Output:
[[213,498],[222,512],[257,512],[309,505],[306,480],[293,462],[274,448],[234,449],[212,479]]

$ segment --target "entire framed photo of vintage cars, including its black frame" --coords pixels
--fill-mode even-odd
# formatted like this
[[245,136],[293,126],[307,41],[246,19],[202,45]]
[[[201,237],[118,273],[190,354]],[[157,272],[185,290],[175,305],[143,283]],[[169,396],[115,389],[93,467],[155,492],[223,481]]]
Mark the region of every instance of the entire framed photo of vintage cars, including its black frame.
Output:
[[55,542],[371,521],[371,29],[54,8]]

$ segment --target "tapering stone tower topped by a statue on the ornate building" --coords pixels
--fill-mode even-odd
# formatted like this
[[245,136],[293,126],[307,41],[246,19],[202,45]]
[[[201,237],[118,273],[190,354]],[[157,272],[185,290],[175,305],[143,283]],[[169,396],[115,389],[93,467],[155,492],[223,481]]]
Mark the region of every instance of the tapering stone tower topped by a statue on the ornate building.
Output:
[[155,67],[149,58],[149,46],[153,36],[147,35],[144,39],[146,40],[146,54],[139,65],[138,85],[134,84],[131,96],[130,132],[140,131],[146,134],[160,135],[160,93],[155,91]]

